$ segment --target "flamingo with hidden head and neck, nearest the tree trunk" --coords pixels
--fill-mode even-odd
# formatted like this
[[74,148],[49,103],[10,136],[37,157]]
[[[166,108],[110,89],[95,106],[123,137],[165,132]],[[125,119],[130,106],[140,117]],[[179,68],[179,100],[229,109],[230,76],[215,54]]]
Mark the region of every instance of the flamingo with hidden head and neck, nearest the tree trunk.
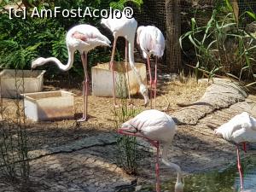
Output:
[[[157,60],[164,55],[166,40],[163,33],[155,26],[139,26],[137,28],[137,44],[143,50],[143,57],[148,61],[148,73],[150,82],[150,107],[152,108],[152,85],[154,86],[154,108],[156,105],[156,85],[157,85]],[[154,82],[151,76],[150,57],[154,55]]]

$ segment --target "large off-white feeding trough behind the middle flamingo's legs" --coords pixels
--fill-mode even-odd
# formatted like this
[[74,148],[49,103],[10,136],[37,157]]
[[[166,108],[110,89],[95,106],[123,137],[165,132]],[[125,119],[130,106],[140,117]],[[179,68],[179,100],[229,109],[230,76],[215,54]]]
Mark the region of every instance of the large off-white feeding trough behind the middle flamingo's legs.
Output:
[[[129,64],[128,64],[129,66]],[[147,83],[146,66],[143,63],[135,63],[138,73],[140,73],[143,84]],[[127,97],[127,75],[125,75],[125,62],[115,62],[115,94],[117,97]],[[139,92],[139,84],[137,77],[133,73],[131,67],[128,67],[128,75],[130,81],[130,94],[135,95]],[[91,67],[92,78],[92,94],[94,96],[113,96],[113,78],[112,71],[109,70],[109,63],[98,64],[96,67]]]

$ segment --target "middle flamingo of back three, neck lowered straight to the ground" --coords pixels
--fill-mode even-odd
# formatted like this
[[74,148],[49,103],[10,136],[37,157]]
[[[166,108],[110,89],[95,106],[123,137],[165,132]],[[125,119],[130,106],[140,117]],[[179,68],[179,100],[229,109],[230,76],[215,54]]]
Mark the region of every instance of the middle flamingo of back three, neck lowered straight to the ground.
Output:
[[[108,29],[113,33],[113,49],[112,49],[112,55],[111,55],[111,61],[110,61],[110,68],[113,73],[113,104],[114,106],[117,106],[116,104],[116,96],[115,96],[115,78],[114,78],[114,54],[115,54],[115,48],[116,48],[116,43],[117,39],[119,37],[124,37],[125,38],[125,69],[126,69],[126,74],[128,75],[128,67],[127,67],[127,52],[129,53],[129,64],[132,69],[132,71],[136,74],[138,84],[140,86],[140,93],[143,95],[144,98],[144,105],[145,107],[148,105],[148,89],[147,87],[143,84],[143,80],[141,75],[138,73],[137,68],[135,67],[135,62],[134,62],[134,39],[135,39],[135,34],[137,30],[137,20],[134,18],[126,18],[125,13],[122,13],[121,18],[117,18],[116,15],[110,15],[108,19],[102,19],[102,25],[107,26]],[[129,50],[127,51],[127,46],[129,44]],[[129,94],[129,99],[131,100],[131,96],[129,93],[129,76],[127,77],[128,80],[128,94]]]

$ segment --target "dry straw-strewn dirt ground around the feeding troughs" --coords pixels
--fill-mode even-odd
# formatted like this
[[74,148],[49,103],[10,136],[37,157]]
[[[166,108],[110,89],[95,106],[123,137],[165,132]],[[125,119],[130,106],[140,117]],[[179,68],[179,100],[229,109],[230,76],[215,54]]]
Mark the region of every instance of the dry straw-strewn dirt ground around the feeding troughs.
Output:
[[[168,82],[160,80],[157,91],[157,109],[164,110],[168,106],[168,112],[177,109],[177,103],[195,102],[199,99],[207,88],[207,84],[197,84],[195,79],[181,83],[180,81]],[[72,86],[72,85],[70,85]],[[79,88],[68,89],[66,82],[45,82],[44,90],[68,90],[75,96],[75,118],[56,121],[33,122],[27,119],[27,132],[29,137],[29,150],[46,148],[49,146],[59,146],[70,143],[79,138],[89,137],[98,132],[115,131],[113,98],[89,96],[89,119],[83,123],[77,123],[82,115],[83,100],[82,91]],[[143,111],[148,108],[143,107],[143,96],[132,96],[134,108]],[[16,104],[13,99],[3,99],[4,117],[15,118]],[[120,100],[118,100],[120,103]],[[20,106],[22,103],[20,102]]]

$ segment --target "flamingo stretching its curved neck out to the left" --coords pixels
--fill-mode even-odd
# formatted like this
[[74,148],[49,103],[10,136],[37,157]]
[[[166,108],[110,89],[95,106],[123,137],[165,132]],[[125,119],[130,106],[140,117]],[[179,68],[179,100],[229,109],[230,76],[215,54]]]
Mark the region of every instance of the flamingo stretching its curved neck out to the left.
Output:
[[67,65],[64,65],[55,57],[43,58],[39,57],[35,61],[32,61],[32,68],[42,66],[47,62],[55,63],[62,71],[68,71],[73,66],[73,55],[76,50],[79,50],[81,60],[84,67],[84,82],[83,82],[83,117],[78,121],[87,120],[87,100],[88,100],[88,86],[89,77],[87,73],[87,54],[91,49],[95,49],[97,46],[110,46],[111,42],[107,37],[95,27],[90,25],[78,25],[73,26],[66,36],[68,61]]

